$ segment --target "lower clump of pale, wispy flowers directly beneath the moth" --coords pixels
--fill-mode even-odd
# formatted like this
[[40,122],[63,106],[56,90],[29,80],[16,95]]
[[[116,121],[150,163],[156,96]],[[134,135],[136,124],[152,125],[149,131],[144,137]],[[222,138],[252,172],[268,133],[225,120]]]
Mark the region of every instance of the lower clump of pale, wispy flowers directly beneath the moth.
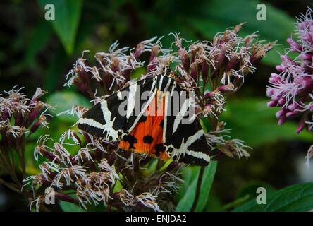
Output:
[[[51,187],[59,201],[78,203],[86,209],[103,203],[116,210],[160,211],[159,198],[165,201],[162,208],[166,209],[171,201],[164,197],[176,190],[177,182],[181,182],[177,169],[171,164],[139,181],[143,172],[141,168],[146,165],[145,159],[133,160],[129,153],[118,153],[113,145],[91,138],[84,131],[66,131],[51,148],[45,144],[47,141],[49,138],[43,136],[35,148],[36,158],[41,155],[48,160],[39,166],[42,173],[25,179],[27,184],[32,184],[31,191],[35,197],[31,203],[36,205],[30,205],[30,208],[35,207],[35,210],[44,205],[44,195],[40,194],[42,189]],[[79,148],[74,156],[68,153],[68,148],[73,146]],[[139,168],[134,170],[134,167]],[[117,182],[123,186],[120,191],[114,191]],[[73,190],[75,197],[68,196],[67,191]]]

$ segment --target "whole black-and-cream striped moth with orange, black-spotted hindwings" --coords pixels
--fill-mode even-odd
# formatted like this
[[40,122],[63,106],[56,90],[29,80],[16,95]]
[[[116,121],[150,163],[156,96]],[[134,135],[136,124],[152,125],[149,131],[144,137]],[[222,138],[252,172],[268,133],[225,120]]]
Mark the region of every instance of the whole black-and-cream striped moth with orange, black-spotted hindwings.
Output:
[[195,117],[194,102],[167,72],[105,97],[82,115],[78,128],[116,141],[121,150],[208,165],[210,148]]

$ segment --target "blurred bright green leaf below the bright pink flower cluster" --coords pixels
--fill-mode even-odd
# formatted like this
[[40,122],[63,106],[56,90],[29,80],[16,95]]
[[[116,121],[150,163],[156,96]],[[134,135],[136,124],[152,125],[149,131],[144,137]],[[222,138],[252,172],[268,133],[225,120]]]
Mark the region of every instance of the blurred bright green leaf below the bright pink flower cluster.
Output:
[[222,120],[227,122],[227,128],[231,128],[233,138],[240,138],[252,148],[264,143],[274,143],[278,139],[312,141],[312,134],[307,131],[297,135],[297,124],[291,121],[278,126],[275,117],[278,108],[267,107],[266,102],[268,100],[262,98],[243,98],[228,102]]

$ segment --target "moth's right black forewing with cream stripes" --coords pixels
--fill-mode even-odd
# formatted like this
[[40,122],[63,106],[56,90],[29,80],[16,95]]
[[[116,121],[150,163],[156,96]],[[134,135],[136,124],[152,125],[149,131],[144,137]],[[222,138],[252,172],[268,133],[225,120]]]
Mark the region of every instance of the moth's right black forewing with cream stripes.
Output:
[[195,117],[194,97],[188,92],[185,92],[185,96],[183,94],[176,83],[166,93],[163,132],[166,153],[179,162],[208,165],[210,148],[202,126]]

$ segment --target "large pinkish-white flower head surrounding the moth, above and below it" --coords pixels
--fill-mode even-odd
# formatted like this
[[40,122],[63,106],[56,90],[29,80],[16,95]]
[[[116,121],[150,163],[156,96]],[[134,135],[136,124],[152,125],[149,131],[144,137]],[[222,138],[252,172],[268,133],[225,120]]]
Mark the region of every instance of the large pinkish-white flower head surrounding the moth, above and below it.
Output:
[[[90,66],[82,54],[66,75],[65,85],[75,85],[97,104],[133,83],[138,68],[145,69],[141,78],[170,72],[181,88],[196,94],[195,115],[209,124],[204,130],[213,160],[223,156],[248,157],[249,147],[232,139],[219,117],[226,110],[228,95],[243,85],[274,43],[255,41],[255,33],[240,37],[240,28],[238,25],[220,32],[212,42],[187,42],[179,34],[171,34],[174,42],[169,49],[157,37],[140,42],[134,49],[118,48],[115,42],[109,52],[95,54],[96,66]],[[146,53],[147,63],[140,61]],[[81,117],[86,111],[83,106],[73,106],[63,114]],[[183,163],[125,152],[116,143],[75,127],[63,133],[59,142],[47,145],[47,141],[49,137],[42,136],[35,148],[36,159],[39,156],[47,159],[40,167],[42,173],[25,180],[32,184],[30,190],[35,194],[31,201],[35,205],[30,208],[39,210],[44,206],[42,191],[52,187],[59,201],[77,203],[87,209],[100,203],[106,210],[175,209],[174,193],[183,183],[181,171],[186,167]],[[71,155],[73,149],[76,151]],[[72,194],[68,195],[69,192]]]

